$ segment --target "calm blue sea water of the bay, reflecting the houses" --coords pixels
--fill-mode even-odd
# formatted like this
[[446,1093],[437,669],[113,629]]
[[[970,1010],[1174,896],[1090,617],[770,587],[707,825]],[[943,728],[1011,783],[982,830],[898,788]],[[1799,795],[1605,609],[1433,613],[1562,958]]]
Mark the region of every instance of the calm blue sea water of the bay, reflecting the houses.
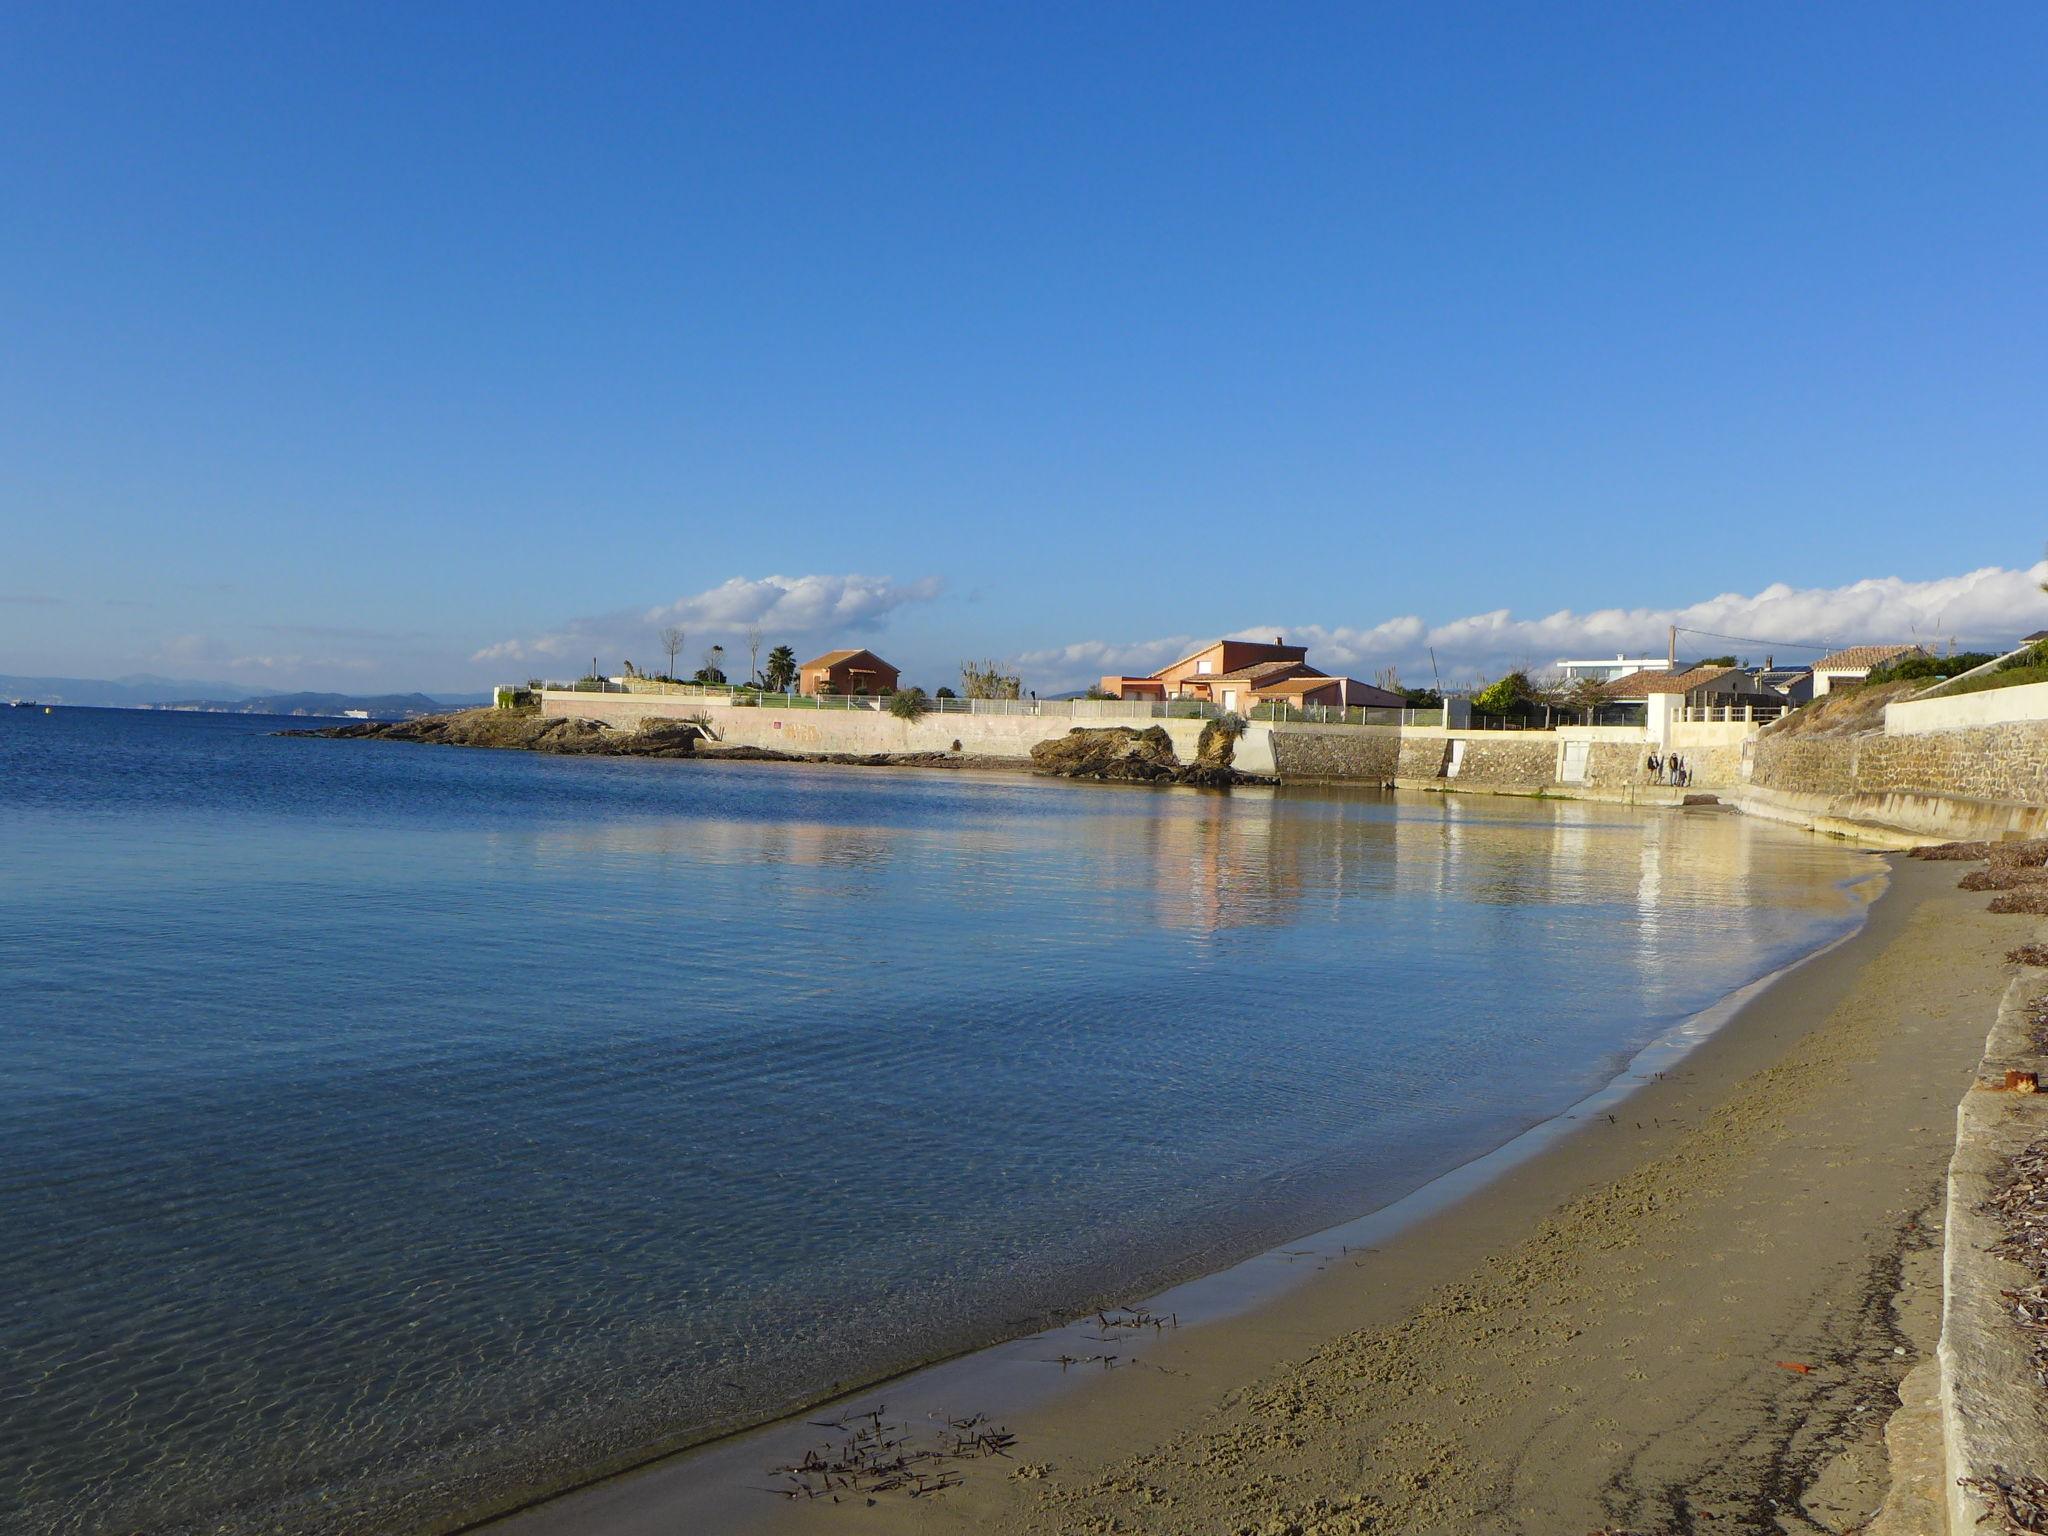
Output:
[[1843,932],[1729,815],[0,711],[0,1509],[418,1530],[1395,1198]]

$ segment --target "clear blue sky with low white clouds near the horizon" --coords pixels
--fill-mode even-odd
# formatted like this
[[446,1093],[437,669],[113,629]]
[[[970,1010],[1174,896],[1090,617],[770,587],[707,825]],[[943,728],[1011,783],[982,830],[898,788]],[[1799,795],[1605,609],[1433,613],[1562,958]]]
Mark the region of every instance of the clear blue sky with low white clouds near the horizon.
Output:
[[2042,78],[2032,4],[6,6],[0,672],[2005,641]]

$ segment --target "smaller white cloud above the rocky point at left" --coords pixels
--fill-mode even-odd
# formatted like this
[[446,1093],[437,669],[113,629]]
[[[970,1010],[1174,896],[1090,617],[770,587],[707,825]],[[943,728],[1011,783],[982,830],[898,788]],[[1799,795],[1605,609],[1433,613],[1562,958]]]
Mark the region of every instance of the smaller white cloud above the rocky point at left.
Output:
[[504,639],[475,651],[471,662],[553,662],[645,655],[655,657],[655,635],[670,625],[688,631],[690,653],[700,643],[737,639],[750,625],[770,633],[770,643],[803,637],[854,637],[883,625],[891,612],[930,602],[938,578],[893,582],[885,575],[735,575],[707,592],[655,608],[573,618],[532,639]]

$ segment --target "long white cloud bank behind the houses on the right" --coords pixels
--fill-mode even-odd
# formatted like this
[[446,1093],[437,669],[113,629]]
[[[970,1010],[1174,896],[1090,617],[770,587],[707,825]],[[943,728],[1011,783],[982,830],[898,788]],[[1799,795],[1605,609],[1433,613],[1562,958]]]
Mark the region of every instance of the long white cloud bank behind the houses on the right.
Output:
[[[1679,657],[1735,655],[1761,662],[1812,662],[1819,649],[1874,641],[1921,641],[1964,649],[2003,649],[2019,635],[2048,627],[2048,561],[2028,569],[1989,565],[1964,575],[1907,582],[1896,575],[1837,588],[1794,588],[1778,582],[1755,594],[1722,592],[1679,608],[1561,608],[1536,618],[1516,618],[1509,608],[1450,618],[1438,625],[1417,614],[1352,625],[1249,625],[1233,639],[1286,635],[1309,647],[1325,672],[1372,678],[1393,666],[1409,682],[1430,676],[1430,651],[1446,682],[1495,676],[1511,666],[1548,668],[1563,657],[1663,655],[1667,631],[1677,625]],[[1184,655],[1202,637],[1169,641],[1077,641],[1020,657],[1034,670],[1040,692],[1079,688],[1106,672],[1151,672]]]

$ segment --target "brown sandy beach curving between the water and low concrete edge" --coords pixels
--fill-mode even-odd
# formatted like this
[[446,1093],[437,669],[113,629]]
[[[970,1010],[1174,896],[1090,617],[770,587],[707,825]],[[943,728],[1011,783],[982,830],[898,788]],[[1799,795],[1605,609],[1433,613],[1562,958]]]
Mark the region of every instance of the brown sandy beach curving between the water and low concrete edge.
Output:
[[[764,1432],[502,1522],[580,1532],[1843,1532],[1931,1339],[1954,1106],[2034,920],[1892,860],[1866,926],[1663,1079],[1286,1294],[1157,1333],[1137,1364],[1012,1370],[1010,1458],[907,1499],[758,1489]],[[1446,1063],[1487,1092],[1487,1063]],[[1108,1348],[1108,1346],[1104,1346]],[[954,1395],[999,1389],[971,1370]],[[879,1389],[852,1407],[897,1399]],[[920,1407],[911,1397],[911,1407]],[[834,1417],[838,1409],[807,1417]],[[922,1415],[920,1415],[922,1417]],[[715,1487],[713,1487],[715,1485]],[[717,1495],[705,1503],[707,1493]]]

